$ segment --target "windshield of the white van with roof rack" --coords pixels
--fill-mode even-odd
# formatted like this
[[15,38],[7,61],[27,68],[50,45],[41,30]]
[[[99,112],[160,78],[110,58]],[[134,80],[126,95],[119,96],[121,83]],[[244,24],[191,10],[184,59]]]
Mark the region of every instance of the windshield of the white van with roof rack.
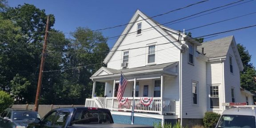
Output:
[[255,116],[222,115],[217,124],[219,128],[256,128]]

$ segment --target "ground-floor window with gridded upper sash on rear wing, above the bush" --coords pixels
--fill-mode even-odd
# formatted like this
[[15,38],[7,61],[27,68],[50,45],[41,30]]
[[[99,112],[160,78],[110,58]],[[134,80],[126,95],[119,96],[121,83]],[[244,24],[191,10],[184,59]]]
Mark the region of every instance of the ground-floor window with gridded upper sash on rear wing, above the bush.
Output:
[[220,108],[218,86],[210,87],[210,108]]

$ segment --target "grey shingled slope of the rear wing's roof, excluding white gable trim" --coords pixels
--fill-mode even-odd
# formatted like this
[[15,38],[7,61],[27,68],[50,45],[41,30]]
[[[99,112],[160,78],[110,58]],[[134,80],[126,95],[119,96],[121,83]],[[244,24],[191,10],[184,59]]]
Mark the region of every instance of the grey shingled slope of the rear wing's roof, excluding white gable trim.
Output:
[[204,48],[204,54],[208,58],[227,56],[228,48],[232,42],[232,39],[233,36],[228,36],[204,42],[201,46],[197,47],[197,51],[202,53],[202,48]]

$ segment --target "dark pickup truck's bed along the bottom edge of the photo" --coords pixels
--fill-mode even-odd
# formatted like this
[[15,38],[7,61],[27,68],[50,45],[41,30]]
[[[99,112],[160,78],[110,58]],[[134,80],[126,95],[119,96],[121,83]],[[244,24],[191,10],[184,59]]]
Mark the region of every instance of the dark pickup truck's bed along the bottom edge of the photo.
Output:
[[153,126],[134,124],[74,124],[68,128],[154,128]]

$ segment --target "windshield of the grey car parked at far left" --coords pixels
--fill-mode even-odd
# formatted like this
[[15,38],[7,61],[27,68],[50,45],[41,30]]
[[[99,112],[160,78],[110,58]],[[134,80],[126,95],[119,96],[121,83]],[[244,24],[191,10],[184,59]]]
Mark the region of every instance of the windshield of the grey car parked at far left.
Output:
[[36,112],[13,112],[13,120],[34,120],[40,118],[39,114]]

